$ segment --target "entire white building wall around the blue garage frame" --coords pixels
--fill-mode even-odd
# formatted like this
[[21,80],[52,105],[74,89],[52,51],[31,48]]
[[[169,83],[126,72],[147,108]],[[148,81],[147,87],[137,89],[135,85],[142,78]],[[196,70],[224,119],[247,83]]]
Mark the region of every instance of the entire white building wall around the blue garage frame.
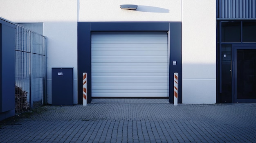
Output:
[[[120,4],[138,8],[122,10]],[[43,22],[49,104],[53,67],[74,67],[77,103],[77,22],[182,21],[183,103],[216,103],[215,0],[0,0],[0,17]]]

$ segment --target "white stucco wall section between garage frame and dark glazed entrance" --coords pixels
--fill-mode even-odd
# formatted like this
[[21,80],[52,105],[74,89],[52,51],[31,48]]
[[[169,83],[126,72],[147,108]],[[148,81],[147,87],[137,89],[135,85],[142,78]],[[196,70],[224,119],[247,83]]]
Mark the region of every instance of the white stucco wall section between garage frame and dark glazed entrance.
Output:
[[216,1],[182,0],[182,103],[216,103]]

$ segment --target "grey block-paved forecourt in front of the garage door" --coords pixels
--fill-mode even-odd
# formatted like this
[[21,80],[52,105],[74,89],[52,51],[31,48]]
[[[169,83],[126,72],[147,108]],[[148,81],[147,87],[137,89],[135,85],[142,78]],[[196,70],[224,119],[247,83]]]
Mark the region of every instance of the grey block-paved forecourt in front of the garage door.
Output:
[[255,103],[92,99],[87,106],[43,106],[0,121],[0,143],[255,143],[255,111]]

